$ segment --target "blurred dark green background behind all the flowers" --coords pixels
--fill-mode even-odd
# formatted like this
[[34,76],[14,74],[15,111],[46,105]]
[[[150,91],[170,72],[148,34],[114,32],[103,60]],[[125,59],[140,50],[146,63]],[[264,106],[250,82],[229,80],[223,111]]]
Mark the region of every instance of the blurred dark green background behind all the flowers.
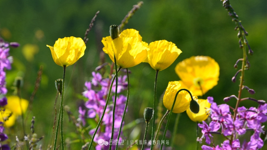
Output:
[[[31,116],[36,116],[35,131],[39,136],[44,135],[40,143],[46,148],[50,140],[51,112],[55,101],[54,81],[62,78],[63,68],[56,65],[51,52],[46,44],[53,45],[58,38],[69,36],[84,37],[94,14],[99,10],[94,27],[90,31],[85,55],[78,61],[73,78],[70,76],[74,65],[67,67],[66,85],[70,85],[66,94],[65,105],[69,105],[74,115],[78,116],[78,106],[82,101],[77,97],[84,91],[85,81],[92,77],[91,72],[99,65],[99,54],[102,51],[102,37],[109,36],[109,26],[119,25],[121,20],[136,4],[134,0],[0,0],[0,28],[2,37],[6,41],[16,41],[21,44],[19,48],[11,48],[10,55],[14,58],[12,70],[7,71],[8,95],[12,93],[11,86],[14,77],[24,76],[22,97],[29,100],[34,88],[37,71],[40,65],[44,66],[43,78],[33,102]],[[214,58],[220,66],[218,85],[209,90],[205,97],[213,96],[217,104],[223,103],[223,98],[238,94],[238,82],[232,83],[231,77],[236,73],[233,65],[242,57],[239,49],[235,24],[231,21],[227,11],[219,0],[151,0],[143,1],[140,10],[129,20],[125,28],[134,28],[139,31],[143,41],[147,43],[156,40],[167,40],[175,43],[182,50],[180,56],[167,69],[160,71],[158,77],[157,99],[163,93],[169,81],[179,80],[174,68],[185,58],[193,55],[207,55]],[[267,100],[267,13],[265,0],[231,0],[231,5],[239,15],[242,25],[249,32],[247,37],[253,56],[248,56],[251,68],[245,72],[245,85],[256,91],[254,98]],[[30,48],[25,48],[25,45]],[[23,48],[25,48],[23,50]],[[29,53],[36,53],[29,56]],[[111,62],[108,55],[106,61]],[[239,65],[239,67],[241,64]],[[107,68],[109,69],[109,68]],[[134,119],[143,117],[145,107],[153,107],[153,87],[155,70],[148,63],[141,63],[130,68],[131,94],[129,111],[126,114],[125,124]],[[124,75],[125,73],[120,73]],[[126,93],[126,92],[125,92]],[[243,92],[243,97],[252,97],[248,92]],[[58,102],[59,103],[59,102]],[[235,106],[235,101],[228,102]],[[59,105],[59,104],[58,104]],[[241,106],[257,107],[255,102],[245,101]],[[165,113],[165,108],[163,110]],[[64,113],[65,137],[72,141],[79,136],[75,135],[75,127],[68,122]],[[176,115],[172,115],[170,132]],[[53,120],[53,119],[52,119]],[[29,120],[30,122],[30,120]],[[165,124],[165,123],[164,123]],[[29,124],[28,128],[30,127]],[[165,125],[164,125],[165,127]],[[18,128],[14,126],[11,131]],[[50,130],[49,130],[50,129]],[[145,123],[125,131],[125,135],[131,132],[143,139]],[[175,149],[195,149],[196,123],[192,122],[185,112],[182,113],[178,132],[175,135]],[[150,129],[151,130],[151,129]],[[16,135],[16,132],[12,132]],[[150,138],[151,131],[149,131]],[[245,134],[241,139],[249,139]],[[129,137],[130,138],[130,137]],[[132,140],[126,138],[128,140]],[[170,139],[169,139],[170,140]],[[12,139],[15,141],[15,139]],[[223,141],[220,136],[214,136],[215,144]],[[204,142],[205,143],[205,142]],[[80,149],[83,143],[74,143],[70,149]],[[264,147],[267,149],[267,147]],[[264,149],[263,148],[263,149]]]

